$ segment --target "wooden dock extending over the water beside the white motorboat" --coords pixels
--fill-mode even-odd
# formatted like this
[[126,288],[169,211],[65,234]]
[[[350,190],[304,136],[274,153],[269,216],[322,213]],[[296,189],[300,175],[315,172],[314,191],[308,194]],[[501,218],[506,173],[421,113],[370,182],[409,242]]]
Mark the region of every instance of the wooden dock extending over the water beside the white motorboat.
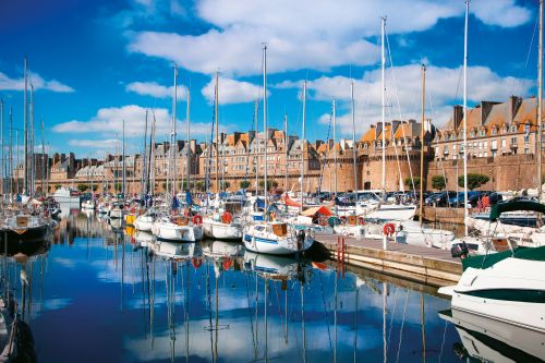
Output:
[[317,234],[315,240],[339,263],[434,287],[453,285],[462,274],[460,259],[453,258],[450,251],[393,242],[384,251],[383,241],[337,234]]

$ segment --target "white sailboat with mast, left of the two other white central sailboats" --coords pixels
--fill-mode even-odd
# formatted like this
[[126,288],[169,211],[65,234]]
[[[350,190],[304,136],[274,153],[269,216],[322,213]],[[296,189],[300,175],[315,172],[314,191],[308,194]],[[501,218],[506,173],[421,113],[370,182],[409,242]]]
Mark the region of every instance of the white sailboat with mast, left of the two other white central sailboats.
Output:
[[[169,177],[167,178],[167,187],[170,182],[170,191],[166,194],[172,198],[173,209],[178,209],[178,198],[175,195],[175,155],[177,155],[177,141],[175,141],[175,122],[177,122],[177,102],[178,102],[178,65],[174,64],[174,93],[172,99],[172,124],[171,124],[171,159],[170,162],[174,164],[169,167]],[[170,193],[169,193],[170,192]],[[175,204],[175,205],[174,205]],[[164,215],[152,223],[152,232],[159,240],[169,240],[178,242],[196,242],[203,238],[203,229],[201,223],[203,218],[201,216],[171,216],[170,214]]]

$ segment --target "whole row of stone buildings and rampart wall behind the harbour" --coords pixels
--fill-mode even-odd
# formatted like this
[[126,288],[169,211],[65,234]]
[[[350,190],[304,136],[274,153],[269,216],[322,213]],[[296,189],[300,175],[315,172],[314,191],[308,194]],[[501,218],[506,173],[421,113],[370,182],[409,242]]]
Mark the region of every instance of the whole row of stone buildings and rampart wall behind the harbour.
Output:
[[[249,190],[263,189],[267,166],[268,179],[281,190],[299,191],[301,186],[307,192],[332,191],[336,186],[339,192],[379,190],[384,148],[387,191],[410,189],[405,180],[411,174],[420,176],[421,152],[424,153],[425,185],[429,186],[426,189],[432,190],[434,176],[444,176],[447,187],[456,190],[458,177],[463,174],[462,107],[453,107],[449,121],[440,130],[427,120],[423,140],[421,128],[422,124],[414,120],[392,120],[386,122],[384,130],[382,123],[373,124],[355,145],[352,140],[341,140],[336,144],[331,140],[302,141],[275,129],[221,134],[218,145],[196,141],[178,141],[174,145],[156,143],[152,153],[154,187],[156,192],[165,191],[169,170],[175,170],[177,189],[185,187],[181,181],[187,176],[192,189],[203,190],[206,185],[210,191],[233,191],[241,185]],[[468,111],[469,172],[487,174],[489,181],[482,186],[486,190],[535,187],[538,182],[536,134],[536,98],[511,96],[505,102],[482,101]],[[172,153],[177,156],[175,167],[170,157]],[[125,156],[124,159],[125,190],[138,193],[144,166],[149,162],[142,155]],[[60,185],[89,191],[93,187],[98,192],[121,190],[122,156],[77,159],[72,153],[35,155],[35,164],[39,170],[37,176],[47,174],[45,185],[36,180],[38,190],[47,187],[52,192]],[[304,185],[301,185],[302,173]],[[20,166],[14,174],[15,179],[21,179],[23,167]]]

